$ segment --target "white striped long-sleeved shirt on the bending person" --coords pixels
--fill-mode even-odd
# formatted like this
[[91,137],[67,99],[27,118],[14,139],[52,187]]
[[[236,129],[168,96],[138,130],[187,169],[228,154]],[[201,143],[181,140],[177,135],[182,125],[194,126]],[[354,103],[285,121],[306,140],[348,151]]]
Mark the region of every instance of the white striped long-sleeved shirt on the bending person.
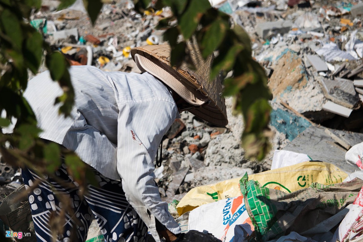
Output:
[[[158,237],[153,216],[173,233],[180,227],[155,184],[154,157],[178,108],[170,90],[151,74],[69,68],[75,90],[71,117],[58,115],[62,95],[45,71],[29,81],[24,97],[43,131],[40,137],[64,145],[110,179],[122,180],[127,201]],[[151,216],[148,215],[150,211]]]

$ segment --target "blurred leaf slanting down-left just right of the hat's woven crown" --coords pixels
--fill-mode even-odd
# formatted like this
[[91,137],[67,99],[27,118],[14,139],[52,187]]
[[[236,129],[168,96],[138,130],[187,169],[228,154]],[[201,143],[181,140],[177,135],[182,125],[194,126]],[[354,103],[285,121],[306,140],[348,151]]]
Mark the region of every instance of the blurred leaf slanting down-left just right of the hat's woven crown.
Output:
[[235,44],[233,46],[225,47],[227,52],[220,50],[219,56],[213,61],[211,69],[211,79],[215,78],[221,70],[229,71],[232,69],[236,56],[243,50],[244,46]]

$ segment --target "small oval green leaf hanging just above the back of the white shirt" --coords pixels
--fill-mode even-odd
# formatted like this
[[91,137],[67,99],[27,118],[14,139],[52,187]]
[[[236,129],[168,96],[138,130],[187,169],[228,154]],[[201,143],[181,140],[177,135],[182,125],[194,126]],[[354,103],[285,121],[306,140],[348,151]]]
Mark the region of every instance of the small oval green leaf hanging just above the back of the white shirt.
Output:
[[66,71],[66,62],[62,53],[56,51],[48,54],[45,63],[52,79],[54,81],[60,80]]

